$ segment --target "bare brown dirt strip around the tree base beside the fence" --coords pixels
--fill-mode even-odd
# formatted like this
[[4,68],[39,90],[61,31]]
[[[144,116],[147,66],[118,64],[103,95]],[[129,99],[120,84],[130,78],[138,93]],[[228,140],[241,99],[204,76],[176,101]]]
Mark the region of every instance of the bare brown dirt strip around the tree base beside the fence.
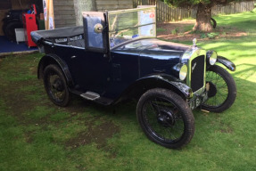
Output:
[[176,22],[162,22],[157,25],[157,37],[166,40],[192,41],[207,40],[212,38],[243,37],[247,33],[237,28],[219,27],[214,28],[211,33],[200,33],[192,30],[194,20],[182,20]]

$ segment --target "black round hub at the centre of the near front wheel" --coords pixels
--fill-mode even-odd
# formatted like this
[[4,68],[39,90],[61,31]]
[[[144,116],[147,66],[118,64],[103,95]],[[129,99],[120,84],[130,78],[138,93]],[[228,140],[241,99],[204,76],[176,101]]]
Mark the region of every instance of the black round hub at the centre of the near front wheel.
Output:
[[174,126],[175,125],[175,118],[171,111],[169,110],[161,110],[161,113],[158,115],[158,123],[162,126]]

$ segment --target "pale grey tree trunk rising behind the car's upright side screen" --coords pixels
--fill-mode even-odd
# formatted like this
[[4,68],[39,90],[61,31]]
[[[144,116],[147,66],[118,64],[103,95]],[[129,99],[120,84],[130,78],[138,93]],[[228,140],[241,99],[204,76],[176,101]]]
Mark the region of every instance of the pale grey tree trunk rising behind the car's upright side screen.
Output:
[[96,12],[95,0],[74,0],[74,7],[76,13],[76,25],[83,25],[82,12]]

